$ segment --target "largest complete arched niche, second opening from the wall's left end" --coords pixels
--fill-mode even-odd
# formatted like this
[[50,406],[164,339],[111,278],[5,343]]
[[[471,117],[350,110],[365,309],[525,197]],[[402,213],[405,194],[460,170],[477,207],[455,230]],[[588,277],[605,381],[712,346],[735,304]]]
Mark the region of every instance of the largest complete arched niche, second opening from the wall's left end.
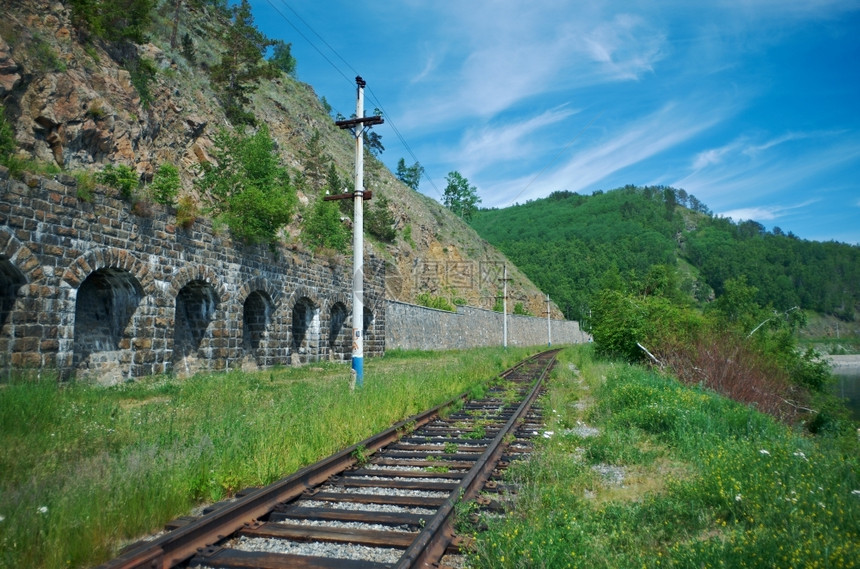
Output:
[[75,299],[74,368],[82,376],[115,383],[130,372],[126,328],[144,297],[129,271],[106,267],[90,273]]

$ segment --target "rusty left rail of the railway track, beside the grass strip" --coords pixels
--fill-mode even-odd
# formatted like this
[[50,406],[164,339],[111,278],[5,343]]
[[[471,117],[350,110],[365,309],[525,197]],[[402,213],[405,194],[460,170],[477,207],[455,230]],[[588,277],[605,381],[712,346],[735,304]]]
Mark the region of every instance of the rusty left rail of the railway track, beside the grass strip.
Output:
[[[497,377],[508,377],[540,355],[535,354],[526,358]],[[99,565],[96,569],[171,569],[193,557],[202,548],[215,544],[268,514],[278,503],[292,500],[322,484],[331,476],[354,466],[358,462],[355,455],[359,449],[365,455],[373,454],[397,441],[405,433],[434,420],[442,409],[465,401],[467,398],[468,393],[463,393],[432,409],[404,419],[381,433],[307,466],[282,480],[252,490],[234,502],[222,505],[161,537],[132,545],[118,557]]]

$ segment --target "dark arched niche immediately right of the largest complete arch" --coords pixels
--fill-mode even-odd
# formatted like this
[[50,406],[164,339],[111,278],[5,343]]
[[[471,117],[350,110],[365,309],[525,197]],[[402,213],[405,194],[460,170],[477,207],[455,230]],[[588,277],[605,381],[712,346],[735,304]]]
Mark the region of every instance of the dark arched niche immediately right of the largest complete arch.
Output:
[[218,294],[210,283],[192,280],[176,294],[173,319],[173,369],[181,375],[199,371],[199,350],[218,309]]

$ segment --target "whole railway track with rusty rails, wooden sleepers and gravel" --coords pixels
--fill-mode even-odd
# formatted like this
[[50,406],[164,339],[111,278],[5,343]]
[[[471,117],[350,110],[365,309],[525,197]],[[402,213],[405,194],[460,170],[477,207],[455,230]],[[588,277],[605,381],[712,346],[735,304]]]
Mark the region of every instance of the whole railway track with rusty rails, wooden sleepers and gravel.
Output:
[[480,400],[455,398],[200,517],[171,522],[99,569],[445,566],[462,545],[457,504],[501,508],[492,496],[542,426],[535,401],[557,352],[523,360]]

